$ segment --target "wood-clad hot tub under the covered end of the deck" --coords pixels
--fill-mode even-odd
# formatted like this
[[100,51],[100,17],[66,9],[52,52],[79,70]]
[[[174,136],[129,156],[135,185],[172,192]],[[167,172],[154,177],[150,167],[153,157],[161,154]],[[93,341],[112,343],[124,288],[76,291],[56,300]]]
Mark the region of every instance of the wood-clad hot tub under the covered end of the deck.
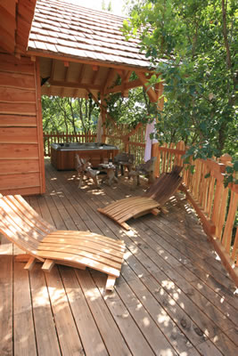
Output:
[[89,159],[93,167],[97,167],[104,159],[114,158],[119,149],[105,143],[52,143],[51,163],[58,170],[75,169],[75,155]]

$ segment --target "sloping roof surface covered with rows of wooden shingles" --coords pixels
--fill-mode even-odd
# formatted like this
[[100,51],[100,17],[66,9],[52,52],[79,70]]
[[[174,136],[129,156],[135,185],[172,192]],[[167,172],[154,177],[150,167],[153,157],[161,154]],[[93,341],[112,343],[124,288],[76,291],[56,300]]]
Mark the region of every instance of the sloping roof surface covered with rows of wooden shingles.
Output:
[[148,69],[139,40],[125,39],[125,18],[56,0],[37,0],[29,53]]

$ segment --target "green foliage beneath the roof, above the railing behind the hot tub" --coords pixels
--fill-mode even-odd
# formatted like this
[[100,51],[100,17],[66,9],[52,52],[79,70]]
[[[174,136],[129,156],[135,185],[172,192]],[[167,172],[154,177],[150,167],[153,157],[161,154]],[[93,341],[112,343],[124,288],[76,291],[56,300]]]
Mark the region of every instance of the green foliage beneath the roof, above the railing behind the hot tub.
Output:
[[92,98],[72,99],[42,97],[43,130],[45,132],[94,131],[99,108]]

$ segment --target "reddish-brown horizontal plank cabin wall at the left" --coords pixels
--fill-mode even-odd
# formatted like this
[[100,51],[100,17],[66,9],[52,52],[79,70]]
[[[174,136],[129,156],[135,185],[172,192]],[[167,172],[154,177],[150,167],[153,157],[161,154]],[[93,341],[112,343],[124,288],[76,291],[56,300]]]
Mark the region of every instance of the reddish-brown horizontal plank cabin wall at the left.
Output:
[[0,53],[0,193],[44,191],[38,62]]

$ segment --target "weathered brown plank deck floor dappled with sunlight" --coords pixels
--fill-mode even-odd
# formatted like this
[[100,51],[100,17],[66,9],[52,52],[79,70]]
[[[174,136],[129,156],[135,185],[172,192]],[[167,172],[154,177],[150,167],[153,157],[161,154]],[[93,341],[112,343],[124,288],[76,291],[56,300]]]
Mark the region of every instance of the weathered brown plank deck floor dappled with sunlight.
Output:
[[127,244],[114,292],[97,271],[40,264],[23,270],[8,241],[0,246],[0,355],[194,356],[238,354],[235,287],[212,251],[182,195],[168,214],[128,224],[97,212],[111,201],[142,193],[131,183],[78,190],[74,172],[57,172],[46,162],[47,192],[29,197],[57,229],[93,231]]

